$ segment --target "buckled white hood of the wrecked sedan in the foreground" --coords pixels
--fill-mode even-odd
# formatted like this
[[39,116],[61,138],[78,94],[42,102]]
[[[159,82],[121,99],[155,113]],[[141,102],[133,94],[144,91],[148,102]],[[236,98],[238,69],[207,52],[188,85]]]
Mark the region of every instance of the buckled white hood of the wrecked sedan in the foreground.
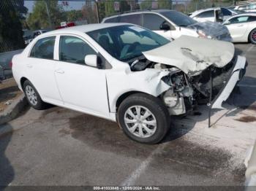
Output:
[[187,75],[195,76],[211,65],[222,68],[232,60],[234,52],[230,42],[181,36],[143,55],[149,61],[176,66]]

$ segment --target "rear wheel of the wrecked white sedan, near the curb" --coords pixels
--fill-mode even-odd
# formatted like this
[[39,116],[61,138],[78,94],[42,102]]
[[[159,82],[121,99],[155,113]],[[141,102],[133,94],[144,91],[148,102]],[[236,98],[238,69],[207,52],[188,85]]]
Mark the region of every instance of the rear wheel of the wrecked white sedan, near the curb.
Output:
[[23,91],[26,95],[27,100],[29,101],[29,104],[34,109],[46,109],[48,108],[49,104],[46,104],[42,101],[39,93],[37,92],[37,89],[34,87],[34,85],[29,82],[29,80],[26,80],[23,83]]

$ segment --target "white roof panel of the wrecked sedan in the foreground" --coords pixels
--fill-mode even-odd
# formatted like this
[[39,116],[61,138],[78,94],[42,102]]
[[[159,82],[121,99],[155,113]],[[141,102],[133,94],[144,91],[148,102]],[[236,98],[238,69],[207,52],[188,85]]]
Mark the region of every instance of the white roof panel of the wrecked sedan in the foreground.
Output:
[[40,36],[49,36],[54,34],[68,34],[68,33],[75,33],[75,32],[86,33],[86,32],[95,31],[101,28],[108,28],[112,26],[122,26],[122,25],[125,25],[125,23],[97,23],[97,24],[89,24],[89,25],[83,25],[83,26],[72,26],[68,28],[61,28],[61,29],[56,29],[54,31],[49,31],[45,34],[41,34]]

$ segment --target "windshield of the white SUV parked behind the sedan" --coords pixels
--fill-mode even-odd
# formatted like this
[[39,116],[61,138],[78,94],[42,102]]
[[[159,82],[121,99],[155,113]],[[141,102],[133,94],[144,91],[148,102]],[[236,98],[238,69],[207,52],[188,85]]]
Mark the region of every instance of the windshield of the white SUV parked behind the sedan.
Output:
[[190,26],[192,24],[197,23],[197,21],[192,19],[192,17],[184,15],[181,12],[167,11],[167,12],[161,12],[161,14],[167,17],[170,21],[175,23],[177,26]]

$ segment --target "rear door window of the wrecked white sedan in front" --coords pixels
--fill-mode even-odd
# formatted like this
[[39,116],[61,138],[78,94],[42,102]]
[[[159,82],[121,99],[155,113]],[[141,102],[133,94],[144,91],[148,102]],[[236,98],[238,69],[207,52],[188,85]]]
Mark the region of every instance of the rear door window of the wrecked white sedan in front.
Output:
[[56,36],[39,39],[30,52],[30,57],[53,60],[54,43]]

